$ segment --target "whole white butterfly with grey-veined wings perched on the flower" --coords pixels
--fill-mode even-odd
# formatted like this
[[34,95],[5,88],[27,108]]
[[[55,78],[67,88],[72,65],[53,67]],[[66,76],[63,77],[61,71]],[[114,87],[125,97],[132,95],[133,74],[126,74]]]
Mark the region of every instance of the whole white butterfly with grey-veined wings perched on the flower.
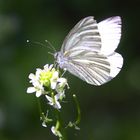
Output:
[[54,57],[59,67],[92,85],[102,85],[114,78],[123,58],[114,52],[121,37],[121,18],[100,23],[89,16],[80,20],[66,36]]

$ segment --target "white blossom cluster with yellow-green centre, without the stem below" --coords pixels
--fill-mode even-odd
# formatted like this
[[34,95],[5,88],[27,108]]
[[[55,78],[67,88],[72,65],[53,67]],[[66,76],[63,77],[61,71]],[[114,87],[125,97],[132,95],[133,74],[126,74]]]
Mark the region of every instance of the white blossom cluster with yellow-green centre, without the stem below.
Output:
[[59,77],[59,71],[53,65],[46,64],[44,69],[36,69],[36,73],[29,75],[32,87],[28,87],[27,93],[36,93],[36,97],[45,95],[48,104],[60,109],[60,101],[65,97],[65,87],[69,87],[67,79]]

